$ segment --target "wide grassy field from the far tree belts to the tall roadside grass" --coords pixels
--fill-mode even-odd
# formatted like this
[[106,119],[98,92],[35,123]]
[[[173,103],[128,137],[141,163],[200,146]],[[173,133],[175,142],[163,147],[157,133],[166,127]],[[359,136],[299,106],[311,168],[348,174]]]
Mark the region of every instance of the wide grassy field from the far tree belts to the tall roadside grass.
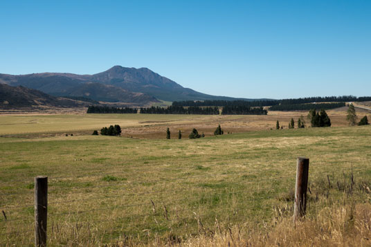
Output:
[[[309,218],[339,201],[369,202],[340,187],[351,174],[369,186],[371,127],[339,127],[343,115],[332,113],[335,127],[269,130],[302,113],[285,114],[0,116],[0,243],[32,246],[37,175],[49,179],[50,246],[187,241],[216,225],[264,229],[278,212],[291,215],[298,156],[310,158]],[[233,134],[210,136],[218,122]],[[88,135],[113,124],[138,138]],[[159,139],[167,126],[183,139]],[[209,136],[189,140],[192,127]]]

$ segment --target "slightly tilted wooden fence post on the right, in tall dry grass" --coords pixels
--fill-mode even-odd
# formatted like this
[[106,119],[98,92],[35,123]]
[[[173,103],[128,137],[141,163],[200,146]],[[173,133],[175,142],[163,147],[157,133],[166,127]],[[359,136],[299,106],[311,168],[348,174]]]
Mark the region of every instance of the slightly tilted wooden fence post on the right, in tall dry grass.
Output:
[[307,208],[307,188],[309,158],[298,158],[296,167],[295,202],[293,204],[293,221],[305,215]]

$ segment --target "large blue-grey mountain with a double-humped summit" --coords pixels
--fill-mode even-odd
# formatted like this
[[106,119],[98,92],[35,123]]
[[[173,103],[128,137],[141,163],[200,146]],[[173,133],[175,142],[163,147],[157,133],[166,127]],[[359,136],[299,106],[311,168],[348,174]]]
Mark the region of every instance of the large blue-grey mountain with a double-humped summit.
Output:
[[114,66],[105,72],[94,75],[71,73],[0,74],[0,83],[26,86],[51,95],[89,97],[93,100],[108,102],[148,104],[149,102],[158,102],[158,100],[236,100],[236,98],[208,95],[184,88],[177,82],[154,73],[148,68],[125,68],[122,66]]

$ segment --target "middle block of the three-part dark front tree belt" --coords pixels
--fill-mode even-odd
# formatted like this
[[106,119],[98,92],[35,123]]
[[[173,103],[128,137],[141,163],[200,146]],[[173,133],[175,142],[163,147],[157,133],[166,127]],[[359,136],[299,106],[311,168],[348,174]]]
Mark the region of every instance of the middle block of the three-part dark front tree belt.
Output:
[[170,106],[141,108],[141,113],[147,114],[199,114],[199,115],[219,115],[218,107],[179,107]]

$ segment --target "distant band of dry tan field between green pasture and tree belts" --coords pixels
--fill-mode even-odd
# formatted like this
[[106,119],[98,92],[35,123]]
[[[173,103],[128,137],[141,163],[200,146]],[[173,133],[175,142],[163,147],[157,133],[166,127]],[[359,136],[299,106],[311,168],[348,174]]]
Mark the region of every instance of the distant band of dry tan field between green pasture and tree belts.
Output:
[[[332,127],[347,126],[346,107],[328,111]],[[362,111],[362,110],[358,110]],[[359,112],[360,116],[363,114]],[[371,113],[368,113],[369,117]],[[0,115],[0,136],[35,138],[40,136],[64,136],[65,134],[87,135],[94,129],[100,130],[109,125],[120,125],[122,136],[145,139],[165,138],[169,127],[173,137],[181,130],[188,135],[192,128],[212,136],[218,124],[226,133],[275,129],[280,121],[287,129],[291,118],[306,118],[305,111],[270,111],[267,116],[199,116],[199,115],[151,115],[151,114],[12,114]]]

